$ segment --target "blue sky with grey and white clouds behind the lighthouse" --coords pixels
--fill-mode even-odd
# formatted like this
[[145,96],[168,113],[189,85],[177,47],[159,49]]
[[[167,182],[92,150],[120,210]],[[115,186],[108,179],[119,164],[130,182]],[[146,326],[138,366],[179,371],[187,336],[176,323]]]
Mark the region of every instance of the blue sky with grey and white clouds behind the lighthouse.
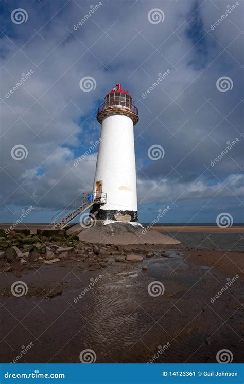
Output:
[[97,108],[121,83],[140,116],[139,221],[242,223],[242,14],[241,0],[2,0],[0,222],[79,205]]

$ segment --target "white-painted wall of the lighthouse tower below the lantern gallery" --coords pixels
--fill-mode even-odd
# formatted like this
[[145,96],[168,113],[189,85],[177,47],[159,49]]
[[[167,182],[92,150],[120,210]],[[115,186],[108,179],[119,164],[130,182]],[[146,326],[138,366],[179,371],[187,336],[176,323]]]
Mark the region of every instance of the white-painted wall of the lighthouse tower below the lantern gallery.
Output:
[[94,180],[102,181],[107,193],[106,210],[137,211],[134,128],[130,117],[111,115],[103,119]]

